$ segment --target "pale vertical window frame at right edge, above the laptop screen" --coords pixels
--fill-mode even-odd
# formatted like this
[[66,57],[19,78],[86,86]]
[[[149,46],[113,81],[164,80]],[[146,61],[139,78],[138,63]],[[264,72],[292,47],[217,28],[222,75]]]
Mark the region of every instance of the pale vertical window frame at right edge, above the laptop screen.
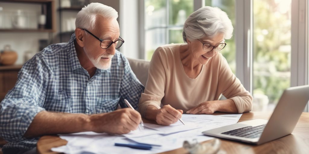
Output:
[[[308,84],[308,0],[293,0],[291,16],[291,87]],[[308,112],[308,103],[305,112]]]

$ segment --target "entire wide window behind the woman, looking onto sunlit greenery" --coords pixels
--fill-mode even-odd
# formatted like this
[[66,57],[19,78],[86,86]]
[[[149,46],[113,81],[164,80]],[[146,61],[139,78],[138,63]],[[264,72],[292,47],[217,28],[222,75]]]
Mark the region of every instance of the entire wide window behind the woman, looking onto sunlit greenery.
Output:
[[222,55],[252,93],[253,111],[271,111],[284,89],[308,84],[308,0],[144,2],[145,59],[150,60],[160,45],[183,43],[183,24],[194,10],[216,6],[234,26]]

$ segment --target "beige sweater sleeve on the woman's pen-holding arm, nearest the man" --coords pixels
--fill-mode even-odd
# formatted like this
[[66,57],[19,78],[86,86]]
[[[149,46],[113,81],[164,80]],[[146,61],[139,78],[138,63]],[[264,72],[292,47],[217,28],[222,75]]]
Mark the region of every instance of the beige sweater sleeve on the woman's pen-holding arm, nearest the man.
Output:
[[141,113],[142,117],[145,117],[146,109],[149,105],[161,108],[161,100],[164,96],[164,89],[166,83],[166,74],[164,68],[164,59],[160,55],[159,47],[153,54],[150,66],[148,70],[148,79],[144,92],[141,95],[138,104],[138,111]]

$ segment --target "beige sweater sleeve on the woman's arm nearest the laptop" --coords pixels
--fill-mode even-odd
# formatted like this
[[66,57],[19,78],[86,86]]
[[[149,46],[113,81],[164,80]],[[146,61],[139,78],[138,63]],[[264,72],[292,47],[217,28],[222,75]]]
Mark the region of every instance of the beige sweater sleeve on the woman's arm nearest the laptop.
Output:
[[252,110],[252,96],[247,91],[240,80],[233,74],[226,59],[222,56],[219,66],[218,89],[222,91],[227,99],[234,101],[238,113],[249,112]]

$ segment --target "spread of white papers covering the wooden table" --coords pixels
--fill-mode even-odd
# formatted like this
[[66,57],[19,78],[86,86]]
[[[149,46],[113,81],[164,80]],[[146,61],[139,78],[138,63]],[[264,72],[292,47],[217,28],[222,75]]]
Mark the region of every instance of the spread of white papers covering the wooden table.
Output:
[[[230,124],[235,124],[242,114],[226,115],[182,115],[185,125],[180,122],[171,126],[144,124],[144,130],[135,130],[125,135],[108,135],[106,133],[81,132],[60,135],[68,141],[65,146],[52,148],[55,152],[82,154],[92,152],[105,153],[159,153],[181,148],[185,140],[198,142],[213,139],[201,132]],[[116,147],[115,143],[144,143],[152,146],[151,150],[128,147]]]

